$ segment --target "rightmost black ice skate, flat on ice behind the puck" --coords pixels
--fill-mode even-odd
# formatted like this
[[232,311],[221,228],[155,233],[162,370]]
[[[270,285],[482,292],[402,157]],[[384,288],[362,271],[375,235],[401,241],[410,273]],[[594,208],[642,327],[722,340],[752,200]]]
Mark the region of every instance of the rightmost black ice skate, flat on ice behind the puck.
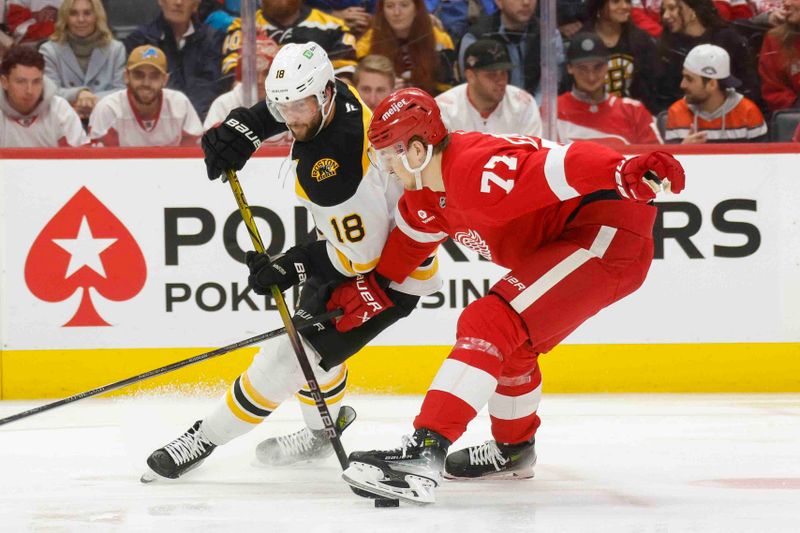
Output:
[[447,456],[444,477],[447,479],[528,479],[536,464],[534,439],[521,444],[503,444],[493,440],[470,446]]

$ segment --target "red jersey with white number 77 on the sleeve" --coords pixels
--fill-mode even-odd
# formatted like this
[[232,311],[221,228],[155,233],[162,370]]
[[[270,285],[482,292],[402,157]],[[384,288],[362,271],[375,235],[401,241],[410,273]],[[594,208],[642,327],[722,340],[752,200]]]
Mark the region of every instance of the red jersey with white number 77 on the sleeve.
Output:
[[451,132],[442,157],[445,192],[406,191],[397,227],[377,271],[405,277],[452,237],[492,262],[514,268],[521,249],[553,240],[581,197],[615,189],[624,160],[589,142],[542,146],[535,137]]

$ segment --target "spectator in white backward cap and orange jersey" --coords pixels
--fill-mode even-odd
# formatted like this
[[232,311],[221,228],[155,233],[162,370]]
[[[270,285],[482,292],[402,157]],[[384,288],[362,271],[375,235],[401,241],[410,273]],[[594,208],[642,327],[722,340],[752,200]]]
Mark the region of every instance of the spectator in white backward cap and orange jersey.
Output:
[[738,92],[724,48],[701,44],[683,62],[681,89],[686,94],[669,108],[665,138],[682,144],[767,140],[758,106]]

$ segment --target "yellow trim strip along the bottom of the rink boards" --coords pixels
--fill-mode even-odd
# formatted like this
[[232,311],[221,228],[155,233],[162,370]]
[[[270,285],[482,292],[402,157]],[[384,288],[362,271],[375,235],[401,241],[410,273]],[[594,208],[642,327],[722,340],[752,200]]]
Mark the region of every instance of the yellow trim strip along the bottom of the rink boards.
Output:
[[[206,351],[5,350],[0,398],[63,398]],[[222,394],[255,348],[121,389]],[[422,394],[449,346],[370,346],[348,359],[349,390]],[[564,345],[540,359],[550,393],[800,392],[800,343]],[[112,393],[117,394],[117,393]]]

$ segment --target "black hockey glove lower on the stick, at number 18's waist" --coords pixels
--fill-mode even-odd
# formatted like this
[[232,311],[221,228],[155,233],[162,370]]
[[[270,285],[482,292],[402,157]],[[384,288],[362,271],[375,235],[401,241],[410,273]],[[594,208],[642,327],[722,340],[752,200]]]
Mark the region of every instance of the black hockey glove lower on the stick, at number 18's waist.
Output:
[[309,275],[305,250],[298,246],[289,248],[285,254],[272,260],[267,254],[256,252],[247,252],[244,260],[250,269],[247,281],[256,294],[269,294],[273,285],[277,285],[283,292],[298,283],[303,283]]

